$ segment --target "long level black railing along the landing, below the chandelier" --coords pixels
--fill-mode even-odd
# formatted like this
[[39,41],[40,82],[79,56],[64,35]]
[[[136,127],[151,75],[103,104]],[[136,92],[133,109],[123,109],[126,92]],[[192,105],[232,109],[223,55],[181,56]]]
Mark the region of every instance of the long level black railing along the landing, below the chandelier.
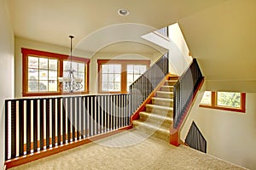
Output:
[[5,100],[5,160],[130,125],[128,94]]

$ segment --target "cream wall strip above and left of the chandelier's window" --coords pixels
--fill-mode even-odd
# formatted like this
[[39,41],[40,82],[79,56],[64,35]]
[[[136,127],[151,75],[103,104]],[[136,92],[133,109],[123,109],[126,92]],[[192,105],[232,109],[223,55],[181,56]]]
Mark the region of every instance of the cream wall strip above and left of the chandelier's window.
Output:
[[[67,37],[67,47],[70,40]],[[15,37],[15,98],[22,97],[22,54],[21,48],[31,48],[56,54],[69,54],[70,48],[56,46],[54,44],[36,42],[20,37]],[[73,56],[90,58],[90,53],[79,51],[73,47]]]

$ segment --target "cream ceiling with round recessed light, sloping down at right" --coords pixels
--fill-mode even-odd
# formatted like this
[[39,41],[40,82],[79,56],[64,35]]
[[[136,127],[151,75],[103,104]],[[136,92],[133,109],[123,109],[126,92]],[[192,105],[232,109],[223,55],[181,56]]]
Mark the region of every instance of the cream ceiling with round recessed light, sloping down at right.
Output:
[[91,53],[160,51],[141,36],[177,22],[210,81],[256,81],[255,7],[255,0],[9,0],[16,37],[69,47],[72,34],[76,48]]

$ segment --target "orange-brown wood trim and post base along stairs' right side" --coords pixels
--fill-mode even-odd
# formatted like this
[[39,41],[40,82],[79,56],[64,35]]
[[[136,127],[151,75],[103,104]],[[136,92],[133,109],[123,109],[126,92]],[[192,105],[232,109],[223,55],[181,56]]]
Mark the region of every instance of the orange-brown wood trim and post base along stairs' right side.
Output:
[[177,126],[177,128],[174,128],[173,123],[172,123],[171,130],[170,130],[170,144],[175,145],[175,146],[178,146],[180,144],[180,138],[179,138],[180,127],[183,125],[184,120],[186,119],[186,117],[188,115],[189,109],[195,101],[195,96],[197,95],[198,91],[201,89],[204,82],[205,82],[205,77],[202,77],[201,82],[200,82],[199,86],[195,89],[195,93],[193,94],[193,97],[192,97],[191,101],[189,102],[189,105],[186,107],[186,111],[183,115],[181,122]]

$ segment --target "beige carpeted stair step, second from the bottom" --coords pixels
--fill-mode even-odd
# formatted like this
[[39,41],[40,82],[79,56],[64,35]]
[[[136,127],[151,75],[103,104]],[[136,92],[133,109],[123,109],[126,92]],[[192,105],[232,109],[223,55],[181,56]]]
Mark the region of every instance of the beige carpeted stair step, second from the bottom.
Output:
[[171,127],[173,119],[171,116],[162,116],[155,113],[140,112],[140,120],[143,122],[154,123],[155,126]]

